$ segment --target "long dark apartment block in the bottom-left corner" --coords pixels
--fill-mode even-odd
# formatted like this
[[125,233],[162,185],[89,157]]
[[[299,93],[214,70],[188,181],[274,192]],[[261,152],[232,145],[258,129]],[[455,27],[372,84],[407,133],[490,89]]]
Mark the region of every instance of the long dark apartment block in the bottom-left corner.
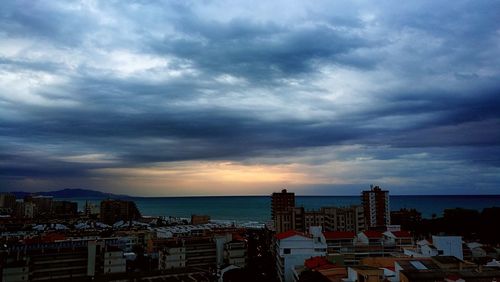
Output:
[[126,271],[116,240],[62,240],[9,247],[2,281],[47,281],[92,278]]

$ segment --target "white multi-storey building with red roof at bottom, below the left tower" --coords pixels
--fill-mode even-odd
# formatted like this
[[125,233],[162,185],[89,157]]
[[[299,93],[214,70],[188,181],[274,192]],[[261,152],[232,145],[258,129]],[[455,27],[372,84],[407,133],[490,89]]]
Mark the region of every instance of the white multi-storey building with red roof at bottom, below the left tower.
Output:
[[311,227],[309,234],[290,230],[276,234],[275,238],[276,269],[281,282],[293,281],[294,268],[304,265],[305,260],[326,255],[321,227]]

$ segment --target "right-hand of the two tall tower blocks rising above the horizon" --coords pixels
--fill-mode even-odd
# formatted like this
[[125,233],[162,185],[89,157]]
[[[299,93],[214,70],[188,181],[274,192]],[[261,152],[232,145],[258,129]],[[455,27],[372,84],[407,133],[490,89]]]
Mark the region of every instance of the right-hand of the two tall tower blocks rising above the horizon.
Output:
[[389,191],[379,186],[371,186],[370,190],[361,195],[366,228],[387,226],[391,224],[389,208]]

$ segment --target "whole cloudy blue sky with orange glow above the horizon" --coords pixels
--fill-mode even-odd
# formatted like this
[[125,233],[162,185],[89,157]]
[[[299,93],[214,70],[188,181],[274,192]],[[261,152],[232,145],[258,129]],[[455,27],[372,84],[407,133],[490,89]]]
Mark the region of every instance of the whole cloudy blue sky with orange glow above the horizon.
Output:
[[499,1],[2,1],[0,191],[500,194]]

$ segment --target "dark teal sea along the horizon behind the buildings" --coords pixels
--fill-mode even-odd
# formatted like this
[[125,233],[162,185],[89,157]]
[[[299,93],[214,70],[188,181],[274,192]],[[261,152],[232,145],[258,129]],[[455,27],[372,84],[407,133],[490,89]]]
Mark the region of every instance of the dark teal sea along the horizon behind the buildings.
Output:
[[[77,201],[83,209],[85,199]],[[191,214],[207,214],[216,220],[237,222],[266,222],[270,219],[270,196],[224,196],[224,197],[158,197],[132,198],[143,215],[175,216],[188,218]],[[98,204],[100,200],[91,199]],[[297,206],[306,209],[319,209],[324,206],[359,205],[359,196],[297,196]],[[391,210],[415,208],[422,216],[442,215],[446,208],[466,208],[482,210],[486,207],[500,206],[500,195],[474,196],[390,196]]]

